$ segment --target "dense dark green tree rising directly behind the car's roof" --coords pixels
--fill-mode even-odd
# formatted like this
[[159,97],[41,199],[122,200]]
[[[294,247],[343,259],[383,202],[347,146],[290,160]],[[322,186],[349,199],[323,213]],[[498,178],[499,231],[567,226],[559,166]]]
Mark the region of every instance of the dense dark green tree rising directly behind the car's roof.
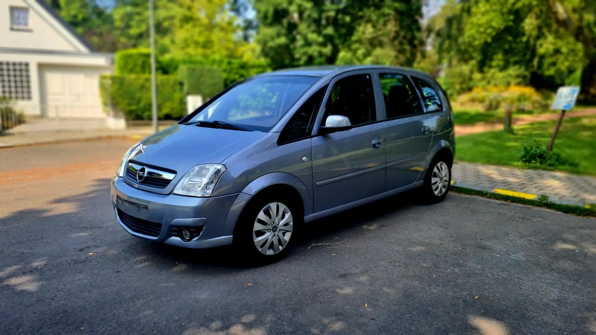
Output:
[[254,7],[256,41],[274,68],[411,65],[423,44],[419,0],[254,0]]

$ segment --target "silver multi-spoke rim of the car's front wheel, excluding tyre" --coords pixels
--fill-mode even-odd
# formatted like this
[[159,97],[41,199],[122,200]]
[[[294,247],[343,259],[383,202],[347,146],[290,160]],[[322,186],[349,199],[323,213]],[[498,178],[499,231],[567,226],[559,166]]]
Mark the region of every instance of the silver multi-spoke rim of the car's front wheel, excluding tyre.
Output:
[[254,246],[263,255],[275,255],[287,246],[293,228],[288,206],[280,202],[266,204],[254,220]]

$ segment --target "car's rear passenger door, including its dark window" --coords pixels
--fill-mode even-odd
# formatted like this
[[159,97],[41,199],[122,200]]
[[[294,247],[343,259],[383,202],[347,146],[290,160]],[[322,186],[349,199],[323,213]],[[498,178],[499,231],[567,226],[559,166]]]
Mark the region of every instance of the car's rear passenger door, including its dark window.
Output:
[[432,142],[432,118],[407,75],[377,72],[383,93],[387,131],[385,190],[410,185],[418,180]]

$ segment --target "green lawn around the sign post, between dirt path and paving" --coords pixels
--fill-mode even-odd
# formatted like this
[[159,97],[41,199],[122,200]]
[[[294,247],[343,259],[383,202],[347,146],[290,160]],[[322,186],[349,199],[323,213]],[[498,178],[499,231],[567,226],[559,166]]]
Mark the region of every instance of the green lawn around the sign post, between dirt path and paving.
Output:
[[[532,139],[548,145],[556,120],[514,127],[515,134],[503,131],[459,136],[455,140],[455,158],[492,165],[519,166],[523,145]],[[554,151],[579,166],[559,166],[557,170],[596,175],[596,116],[563,120]]]

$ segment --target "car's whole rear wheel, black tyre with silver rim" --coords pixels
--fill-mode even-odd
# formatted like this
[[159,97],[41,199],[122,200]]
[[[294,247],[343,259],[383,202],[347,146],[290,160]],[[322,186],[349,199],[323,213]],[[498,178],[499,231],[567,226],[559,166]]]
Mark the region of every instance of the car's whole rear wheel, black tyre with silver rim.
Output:
[[451,190],[452,159],[440,154],[430,162],[421,188],[421,200],[428,204],[440,203]]

